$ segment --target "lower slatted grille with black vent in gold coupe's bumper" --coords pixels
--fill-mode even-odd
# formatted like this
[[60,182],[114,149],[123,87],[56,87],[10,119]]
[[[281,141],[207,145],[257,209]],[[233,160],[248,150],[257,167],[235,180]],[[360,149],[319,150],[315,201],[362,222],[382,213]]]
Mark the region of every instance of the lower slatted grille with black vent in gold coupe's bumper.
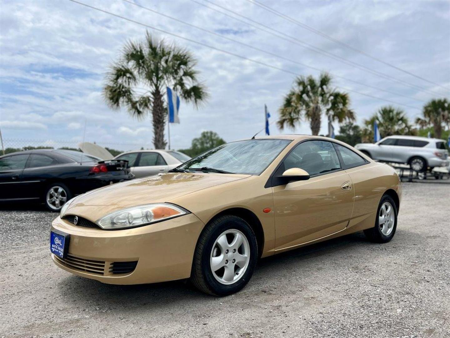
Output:
[[67,255],[66,258],[54,257],[58,262],[67,265],[71,269],[102,276],[109,274],[130,274],[136,269],[136,265],[138,264],[137,260],[130,262],[105,262],[102,260],[88,260],[72,255]]

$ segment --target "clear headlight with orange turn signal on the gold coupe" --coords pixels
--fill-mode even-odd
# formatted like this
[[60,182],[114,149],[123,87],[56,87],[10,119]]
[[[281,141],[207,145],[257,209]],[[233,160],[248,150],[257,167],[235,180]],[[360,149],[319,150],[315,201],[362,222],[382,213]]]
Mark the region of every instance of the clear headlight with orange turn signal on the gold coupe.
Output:
[[188,213],[189,211],[173,204],[155,203],[119,210],[102,217],[95,223],[105,230],[126,229],[152,224]]

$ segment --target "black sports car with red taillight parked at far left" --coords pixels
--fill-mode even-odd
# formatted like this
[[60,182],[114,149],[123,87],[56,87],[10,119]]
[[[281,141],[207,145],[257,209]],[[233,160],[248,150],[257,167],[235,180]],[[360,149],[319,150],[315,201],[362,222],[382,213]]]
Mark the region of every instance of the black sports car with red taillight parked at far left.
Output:
[[59,211],[75,195],[132,178],[126,160],[62,149],[19,151],[0,156],[0,202],[44,202]]

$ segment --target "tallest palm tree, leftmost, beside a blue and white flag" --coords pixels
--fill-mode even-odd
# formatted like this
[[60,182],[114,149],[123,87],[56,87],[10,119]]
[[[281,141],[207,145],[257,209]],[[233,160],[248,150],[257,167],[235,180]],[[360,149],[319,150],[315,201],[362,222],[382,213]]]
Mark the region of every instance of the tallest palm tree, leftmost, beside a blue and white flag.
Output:
[[110,66],[103,96],[114,110],[126,108],[131,116],[153,116],[153,143],[164,149],[166,87],[173,88],[181,99],[198,105],[207,99],[207,91],[198,82],[197,61],[189,51],[152,37],[128,41],[120,59]]

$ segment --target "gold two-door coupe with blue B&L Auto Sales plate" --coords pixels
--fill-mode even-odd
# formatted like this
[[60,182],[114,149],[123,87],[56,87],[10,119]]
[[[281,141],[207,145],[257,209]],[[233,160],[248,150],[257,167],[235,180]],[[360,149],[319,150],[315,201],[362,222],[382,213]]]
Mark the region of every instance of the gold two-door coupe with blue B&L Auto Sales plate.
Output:
[[390,241],[400,199],[396,171],[343,142],[258,137],[73,198],[50,250],[60,268],[103,283],[190,278],[225,296],[260,257],[361,230]]

